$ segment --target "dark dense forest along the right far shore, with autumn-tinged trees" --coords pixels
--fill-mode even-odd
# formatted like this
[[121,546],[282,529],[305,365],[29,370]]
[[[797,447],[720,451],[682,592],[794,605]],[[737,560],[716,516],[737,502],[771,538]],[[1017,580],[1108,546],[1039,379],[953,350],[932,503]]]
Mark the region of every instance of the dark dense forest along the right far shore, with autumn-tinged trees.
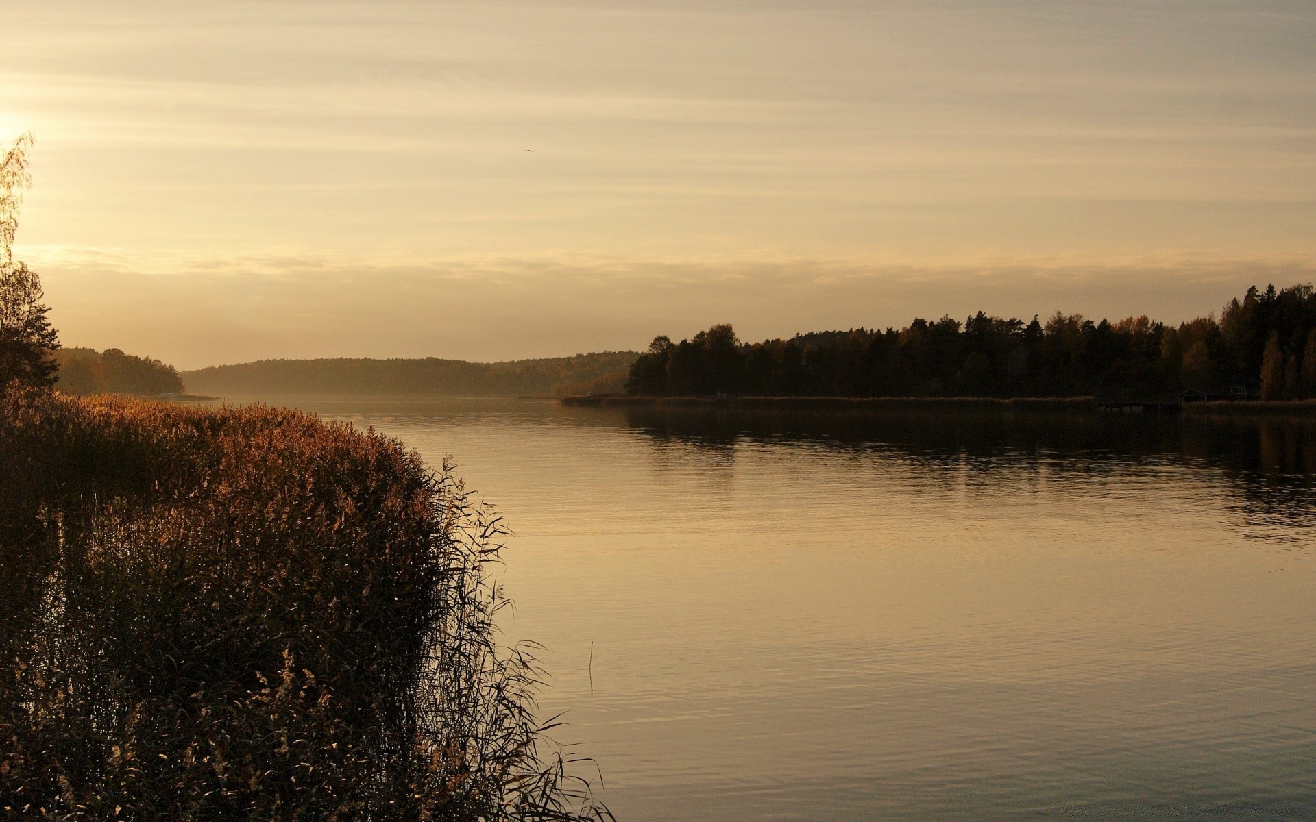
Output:
[[[1178,326],[1057,313],[1046,321],[915,320],[907,327],[815,331],[741,343],[729,325],[658,337],[630,368],[632,395],[1153,397],[1246,388],[1316,397],[1311,285],[1249,288],[1219,320]],[[1236,389],[1237,391],[1237,389]]]

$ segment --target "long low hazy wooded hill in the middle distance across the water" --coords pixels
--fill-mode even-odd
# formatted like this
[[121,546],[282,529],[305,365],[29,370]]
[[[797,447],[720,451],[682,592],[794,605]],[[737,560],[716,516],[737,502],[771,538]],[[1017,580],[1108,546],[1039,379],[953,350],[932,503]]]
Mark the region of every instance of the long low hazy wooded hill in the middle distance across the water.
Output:
[[621,391],[634,351],[471,363],[459,359],[266,359],[184,371],[195,393],[229,397],[516,396]]

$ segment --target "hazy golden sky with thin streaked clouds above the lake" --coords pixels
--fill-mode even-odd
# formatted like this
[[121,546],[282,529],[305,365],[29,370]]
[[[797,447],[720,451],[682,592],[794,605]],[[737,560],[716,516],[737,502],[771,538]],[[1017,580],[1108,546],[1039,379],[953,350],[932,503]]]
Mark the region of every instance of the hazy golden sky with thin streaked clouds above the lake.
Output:
[[1316,279],[1312,0],[8,0],[66,345],[505,359]]

